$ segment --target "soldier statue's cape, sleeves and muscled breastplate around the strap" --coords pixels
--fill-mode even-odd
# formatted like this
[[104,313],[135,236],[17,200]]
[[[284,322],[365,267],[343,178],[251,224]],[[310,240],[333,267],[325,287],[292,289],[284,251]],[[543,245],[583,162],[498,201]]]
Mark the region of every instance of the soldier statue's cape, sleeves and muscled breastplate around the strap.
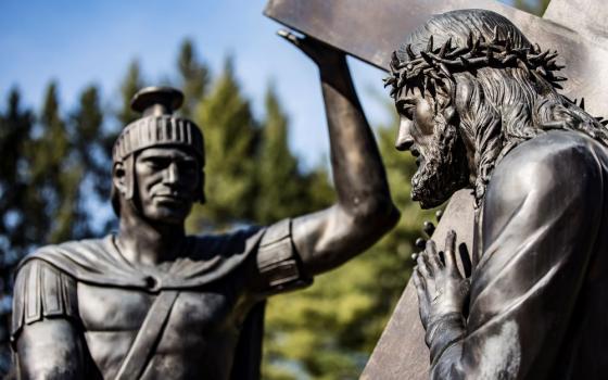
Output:
[[189,237],[179,258],[156,267],[127,262],[114,236],[41,248],[18,269],[12,341],[25,325],[66,318],[81,331],[88,378],[113,379],[154,301],[175,295],[149,354],[131,353],[149,355],[138,376],[255,377],[261,301],[311,282],[300,271],[290,228],[288,219],[267,229]]

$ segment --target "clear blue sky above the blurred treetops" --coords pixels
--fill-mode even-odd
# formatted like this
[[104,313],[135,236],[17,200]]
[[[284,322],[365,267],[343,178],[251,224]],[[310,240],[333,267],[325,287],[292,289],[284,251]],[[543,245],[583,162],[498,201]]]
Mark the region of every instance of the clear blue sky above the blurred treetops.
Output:
[[[0,1],[0,106],[18,86],[26,104],[38,107],[51,79],[60,85],[64,111],[90,84],[112,106],[127,65],[139,60],[148,84],[175,73],[180,41],[191,38],[218,73],[225,58],[257,115],[274,83],[291,121],[291,147],[306,164],[327,155],[328,139],[316,67],[276,36],[280,25],[262,15],[266,0],[180,1]],[[389,115],[384,74],[351,61],[355,84],[372,123]]]

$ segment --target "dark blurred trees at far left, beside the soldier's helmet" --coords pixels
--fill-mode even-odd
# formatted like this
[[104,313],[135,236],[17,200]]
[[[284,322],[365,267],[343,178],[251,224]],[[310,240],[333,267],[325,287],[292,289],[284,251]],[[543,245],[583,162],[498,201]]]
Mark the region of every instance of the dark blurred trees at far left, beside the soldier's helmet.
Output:
[[[42,110],[35,117],[20,104],[12,90],[0,115],[0,250],[2,251],[2,300],[8,304],[12,289],[12,268],[34,248],[90,236],[89,215],[84,193],[101,192],[105,181],[99,131],[102,113],[98,91],[86,89],[78,107],[66,117],[61,111],[58,87],[47,89]],[[102,172],[102,167],[104,170]],[[87,189],[91,183],[92,191]],[[9,365],[8,324],[10,309],[0,309],[0,373]]]

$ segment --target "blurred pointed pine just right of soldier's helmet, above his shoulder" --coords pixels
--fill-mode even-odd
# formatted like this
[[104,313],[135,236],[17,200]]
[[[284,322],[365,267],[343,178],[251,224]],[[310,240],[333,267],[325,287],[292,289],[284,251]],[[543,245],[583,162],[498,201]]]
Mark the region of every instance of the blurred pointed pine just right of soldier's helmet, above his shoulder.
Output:
[[194,122],[205,139],[207,203],[194,208],[190,230],[251,223],[255,201],[255,154],[259,128],[235,78],[231,60],[197,107]]

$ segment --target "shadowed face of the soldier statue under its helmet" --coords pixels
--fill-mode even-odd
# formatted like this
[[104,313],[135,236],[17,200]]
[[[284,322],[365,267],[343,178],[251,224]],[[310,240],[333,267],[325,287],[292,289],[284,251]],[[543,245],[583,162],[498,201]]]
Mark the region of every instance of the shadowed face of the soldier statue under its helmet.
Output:
[[141,213],[167,224],[182,224],[197,200],[201,168],[197,159],[178,148],[149,148],[135,161]]

